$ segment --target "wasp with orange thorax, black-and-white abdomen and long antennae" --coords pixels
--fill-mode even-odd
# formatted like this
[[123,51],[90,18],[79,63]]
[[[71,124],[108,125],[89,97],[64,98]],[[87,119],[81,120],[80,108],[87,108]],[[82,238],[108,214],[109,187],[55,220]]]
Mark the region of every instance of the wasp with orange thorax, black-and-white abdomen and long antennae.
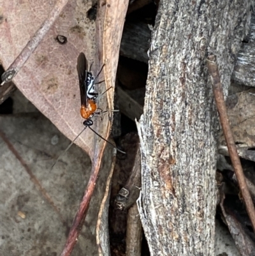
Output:
[[[96,91],[95,91],[95,85],[101,84],[101,82],[104,82],[104,81],[97,82],[96,80],[98,79],[98,77],[99,77],[100,73],[102,72],[103,67],[105,65],[102,66],[98,75],[96,75],[96,77],[94,77],[94,75],[91,72],[92,64],[88,70],[87,59],[85,57],[85,54],[83,52],[81,52],[77,59],[77,72],[78,72],[79,87],[80,87],[80,100],[81,100],[80,115],[85,119],[85,121],[83,123],[85,127],[82,130],[82,132],[84,132],[84,130],[86,128],[89,128],[90,130],[92,130],[92,132],[94,132],[96,135],[98,135],[98,137],[105,140],[106,142],[111,144],[113,147],[115,147],[112,144],[112,142],[106,140],[101,135],[99,135],[99,133],[97,133],[94,129],[91,128],[91,126],[93,124],[92,117],[103,113],[102,110],[98,108],[97,100],[99,99],[100,96],[105,94],[106,91],[111,89],[111,87],[106,89],[106,91],[104,93],[102,93],[101,95],[98,96],[98,93],[96,93]],[[100,111],[97,112],[97,110],[100,110]],[[107,112],[107,111],[105,111],[105,112]],[[69,144],[69,146],[66,148],[66,150],[57,158],[54,165],[59,161],[59,158],[61,158],[61,156],[64,153],[66,153],[66,151],[68,151],[69,147],[71,147],[73,145],[73,142],[75,142],[75,140],[82,134],[82,132],[80,132],[77,135],[77,137],[75,137],[75,139]],[[120,153],[126,154],[124,151],[118,149],[117,147],[115,147],[115,149],[117,151],[119,151]],[[54,165],[52,165],[52,168],[54,167]]]

